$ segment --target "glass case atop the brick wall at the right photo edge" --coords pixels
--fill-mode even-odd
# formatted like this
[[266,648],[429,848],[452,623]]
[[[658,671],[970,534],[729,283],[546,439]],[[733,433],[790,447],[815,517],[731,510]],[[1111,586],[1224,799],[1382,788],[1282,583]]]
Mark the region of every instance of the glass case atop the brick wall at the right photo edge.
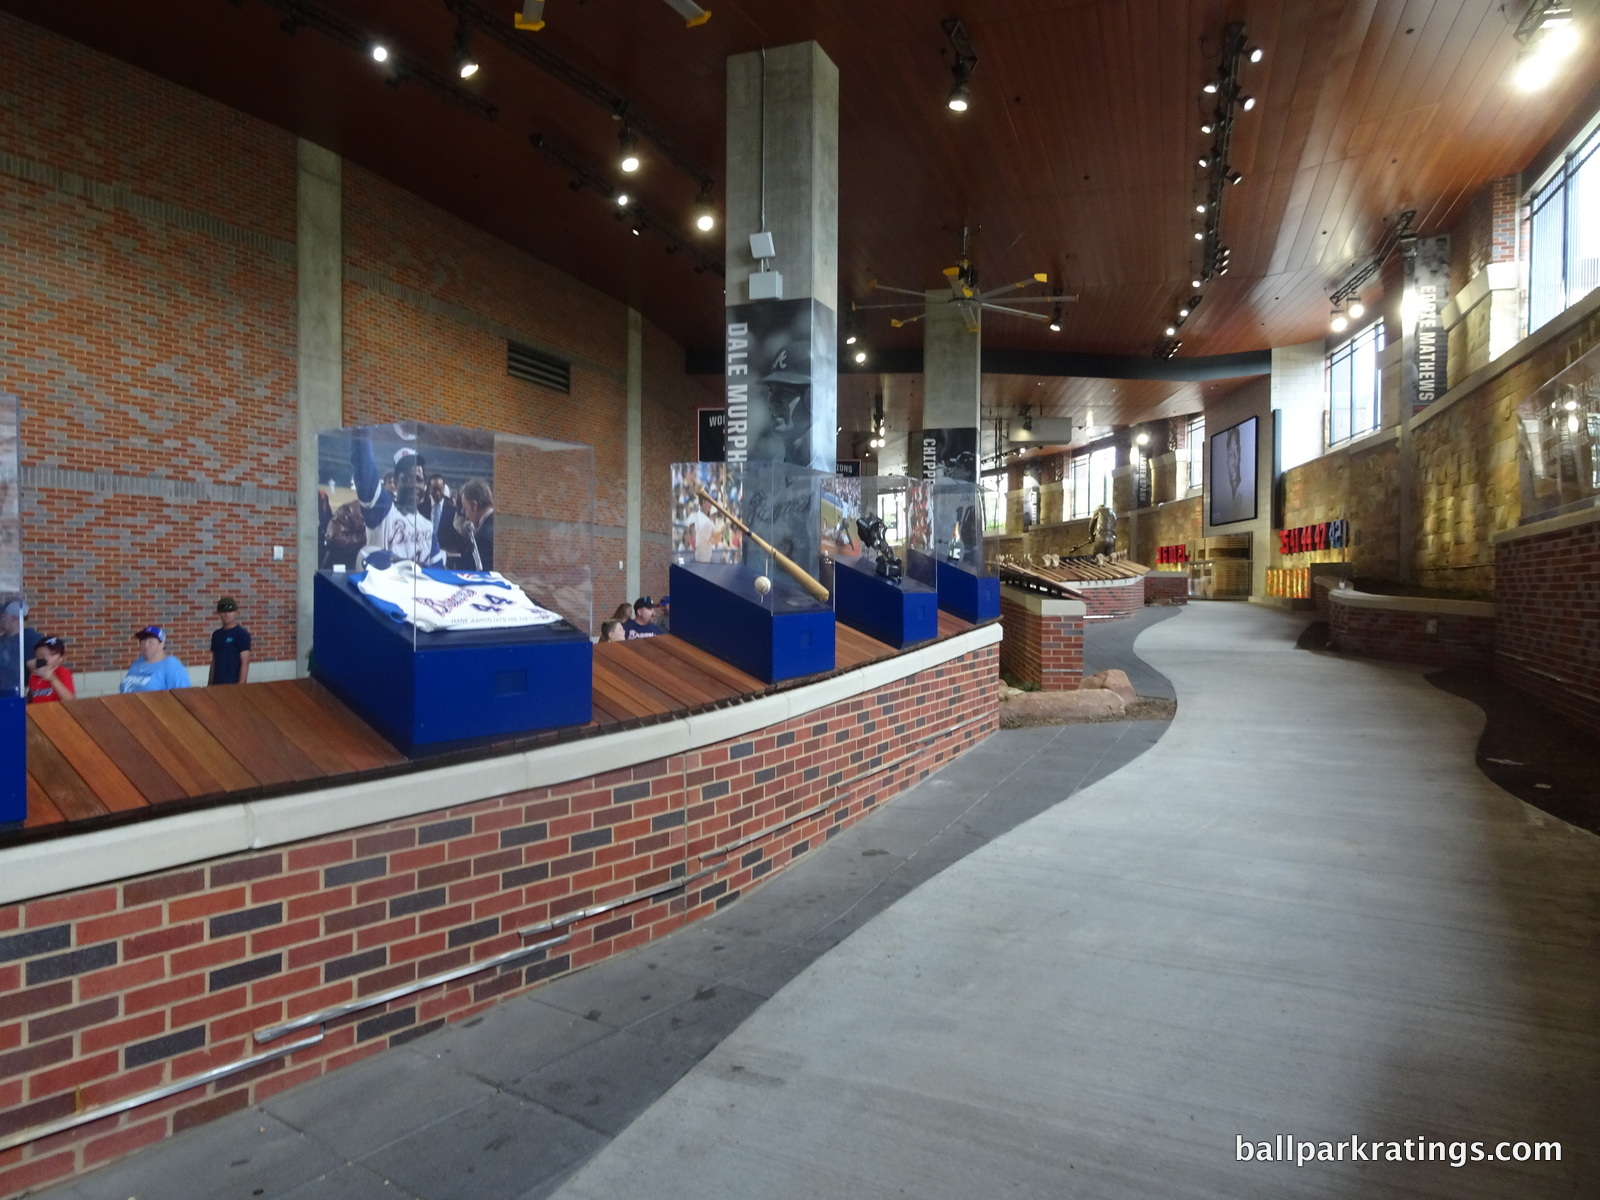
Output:
[[1600,347],[1517,405],[1522,520],[1600,504]]

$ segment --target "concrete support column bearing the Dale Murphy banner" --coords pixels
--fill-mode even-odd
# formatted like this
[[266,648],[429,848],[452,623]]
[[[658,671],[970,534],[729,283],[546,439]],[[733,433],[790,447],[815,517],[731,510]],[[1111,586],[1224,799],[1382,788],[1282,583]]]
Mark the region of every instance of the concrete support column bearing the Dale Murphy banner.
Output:
[[[728,59],[726,208],[728,461],[832,474],[838,67],[814,42]],[[755,258],[754,234],[771,256]]]

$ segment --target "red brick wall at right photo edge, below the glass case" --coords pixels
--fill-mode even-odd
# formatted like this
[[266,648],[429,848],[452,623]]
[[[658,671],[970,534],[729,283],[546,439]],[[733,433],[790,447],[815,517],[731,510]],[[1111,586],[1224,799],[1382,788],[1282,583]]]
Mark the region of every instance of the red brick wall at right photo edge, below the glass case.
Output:
[[1600,731],[1600,523],[1501,542],[1494,674]]

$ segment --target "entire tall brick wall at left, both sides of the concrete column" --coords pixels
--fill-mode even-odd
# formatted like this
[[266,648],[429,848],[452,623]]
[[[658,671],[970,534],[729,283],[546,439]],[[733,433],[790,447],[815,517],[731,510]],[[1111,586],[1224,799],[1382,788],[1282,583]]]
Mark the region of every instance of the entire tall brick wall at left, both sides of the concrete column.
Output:
[[[22,402],[30,624],[80,670],[125,667],[149,622],[203,664],[221,594],[258,659],[294,654],[294,222],[291,134],[0,13],[0,390]],[[346,424],[594,445],[595,610],[632,598],[626,306],[354,163],[344,243]],[[510,379],[507,338],[570,358],[571,395]],[[666,464],[714,398],[643,341],[659,592]]]

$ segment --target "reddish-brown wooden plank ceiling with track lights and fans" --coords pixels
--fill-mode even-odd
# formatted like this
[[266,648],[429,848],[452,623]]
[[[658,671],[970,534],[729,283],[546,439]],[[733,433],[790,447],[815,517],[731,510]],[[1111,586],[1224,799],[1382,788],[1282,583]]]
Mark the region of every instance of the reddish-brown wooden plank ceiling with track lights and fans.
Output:
[[[448,72],[454,18],[440,0],[315,0]],[[715,346],[722,282],[650,235],[632,237],[592,192],[541,160],[547,133],[610,171],[616,123],[594,102],[478,38],[469,85],[496,120],[408,83],[266,0],[0,0],[30,21],[339,150],[611,296],[685,346]],[[510,5],[499,5],[507,11]],[[686,29],[661,0],[552,0],[528,37],[632,99],[714,176],[723,168],[723,62],[816,38],[840,67],[840,286],[931,286],[962,224],[979,227],[990,282],[1034,270],[1082,299],[1051,334],[986,320],[990,346],[1149,354],[1195,261],[1200,85],[1227,21],[1266,58],[1235,126],[1222,237],[1227,278],[1184,328],[1182,354],[1320,338],[1326,291],[1416,208],[1448,229],[1486,179],[1518,171],[1600,77],[1600,37],[1547,90],[1509,85],[1512,27],[1488,0],[718,0]],[[981,56],[965,115],[941,19],[960,16]],[[694,186],[650,146],[630,190],[688,229]],[[702,238],[722,256],[722,230]],[[920,328],[867,326],[877,346]],[[1170,400],[1168,387],[1162,400]]]

